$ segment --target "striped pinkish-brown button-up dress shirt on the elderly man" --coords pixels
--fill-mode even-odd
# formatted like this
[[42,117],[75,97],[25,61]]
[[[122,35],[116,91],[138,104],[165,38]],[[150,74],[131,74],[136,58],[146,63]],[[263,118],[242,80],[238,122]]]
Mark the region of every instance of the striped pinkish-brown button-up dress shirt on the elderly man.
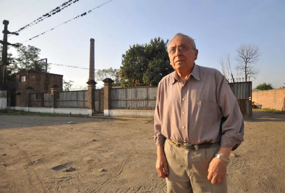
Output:
[[236,149],[243,141],[244,121],[227,80],[216,69],[194,65],[183,83],[174,71],[157,87],[154,116],[156,145],[220,142]]

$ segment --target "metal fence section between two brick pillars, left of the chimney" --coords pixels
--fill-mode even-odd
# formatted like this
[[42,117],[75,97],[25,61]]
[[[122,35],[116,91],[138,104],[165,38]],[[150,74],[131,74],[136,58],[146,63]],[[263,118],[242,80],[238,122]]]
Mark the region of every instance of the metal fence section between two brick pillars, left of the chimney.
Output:
[[56,92],[56,108],[88,109],[88,91]]

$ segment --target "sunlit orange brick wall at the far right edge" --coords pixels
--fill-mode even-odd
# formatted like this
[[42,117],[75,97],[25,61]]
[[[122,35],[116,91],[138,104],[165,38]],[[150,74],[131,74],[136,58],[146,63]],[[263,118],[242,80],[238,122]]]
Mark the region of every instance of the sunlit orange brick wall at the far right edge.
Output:
[[252,92],[252,101],[261,104],[262,108],[285,111],[285,89]]

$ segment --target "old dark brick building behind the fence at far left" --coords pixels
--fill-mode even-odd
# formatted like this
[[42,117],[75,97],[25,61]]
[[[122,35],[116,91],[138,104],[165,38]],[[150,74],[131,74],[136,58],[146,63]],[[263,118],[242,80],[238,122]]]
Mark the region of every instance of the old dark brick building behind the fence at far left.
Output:
[[63,75],[28,70],[16,74],[16,106],[28,106],[29,93],[50,91],[56,85],[62,91]]

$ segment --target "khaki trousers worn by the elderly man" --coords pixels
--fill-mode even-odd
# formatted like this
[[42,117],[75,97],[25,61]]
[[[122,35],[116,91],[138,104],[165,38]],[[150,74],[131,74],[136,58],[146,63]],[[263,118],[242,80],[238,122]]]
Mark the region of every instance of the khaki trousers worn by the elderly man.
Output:
[[165,141],[164,151],[169,175],[166,178],[168,193],[227,193],[227,178],[219,184],[211,184],[208,166],[218,152],[218,143],[209,148],[185,150]]

